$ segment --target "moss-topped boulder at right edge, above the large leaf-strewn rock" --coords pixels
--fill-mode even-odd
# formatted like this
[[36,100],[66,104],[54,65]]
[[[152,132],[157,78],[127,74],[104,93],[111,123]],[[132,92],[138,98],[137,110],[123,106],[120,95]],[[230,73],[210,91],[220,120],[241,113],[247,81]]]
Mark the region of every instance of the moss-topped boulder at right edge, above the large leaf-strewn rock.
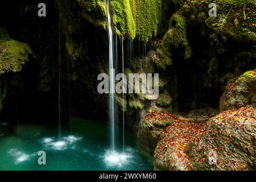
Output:
[[248,105],[256,107],[256,71],[245,72],[228,84],[220,99],[220,111]]

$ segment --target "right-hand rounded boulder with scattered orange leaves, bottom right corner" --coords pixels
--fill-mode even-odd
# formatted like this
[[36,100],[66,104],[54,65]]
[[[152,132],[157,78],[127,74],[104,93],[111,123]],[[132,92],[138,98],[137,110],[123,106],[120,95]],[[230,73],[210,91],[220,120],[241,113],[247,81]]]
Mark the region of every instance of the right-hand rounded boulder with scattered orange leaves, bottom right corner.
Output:
[[224,111],[209,119],[204,135],[189,143],[192,169],[255,170],[255,122],[256,110],[251,107]]

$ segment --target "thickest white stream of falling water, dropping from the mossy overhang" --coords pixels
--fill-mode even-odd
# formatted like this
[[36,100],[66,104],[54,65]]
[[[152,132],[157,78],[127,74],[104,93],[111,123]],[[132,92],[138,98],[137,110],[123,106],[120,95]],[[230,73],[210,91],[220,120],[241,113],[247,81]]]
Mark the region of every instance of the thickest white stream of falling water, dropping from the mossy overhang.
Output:
[[112,150],[115,150],[115,116],[114,116],[114,72],[113,68],[113,32],[111,27],[111,16],[108,3],[108,23],[109,23],[109,120],[110,120],[110,141]]

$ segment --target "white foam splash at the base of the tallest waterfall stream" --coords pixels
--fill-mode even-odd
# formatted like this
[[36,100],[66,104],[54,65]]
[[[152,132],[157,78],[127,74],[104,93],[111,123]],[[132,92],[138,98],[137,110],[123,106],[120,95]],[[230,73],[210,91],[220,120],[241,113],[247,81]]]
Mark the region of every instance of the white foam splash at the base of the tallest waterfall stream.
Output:
[[104,162],[108,167],[122,167],[130,163],[132,156],[125,152],[106,151]]

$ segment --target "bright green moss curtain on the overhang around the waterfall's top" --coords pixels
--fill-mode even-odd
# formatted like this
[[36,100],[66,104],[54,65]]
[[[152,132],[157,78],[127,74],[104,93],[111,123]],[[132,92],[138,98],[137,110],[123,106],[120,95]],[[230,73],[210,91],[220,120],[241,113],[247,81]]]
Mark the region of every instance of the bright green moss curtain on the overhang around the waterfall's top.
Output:
[[[107,29],[106,0],[77,0],[83,7],[82,16],[89,22]],[[148,42],[157,34],[162,0],[112,0],[110,1],[113,29],[116,34]]]

